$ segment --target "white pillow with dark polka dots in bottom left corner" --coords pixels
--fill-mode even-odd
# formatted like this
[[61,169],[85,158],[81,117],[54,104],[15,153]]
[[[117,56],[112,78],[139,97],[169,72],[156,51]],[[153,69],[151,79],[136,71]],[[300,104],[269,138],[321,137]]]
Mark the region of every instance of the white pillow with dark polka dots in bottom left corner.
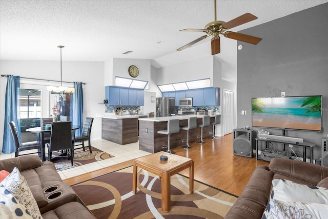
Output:
[[4,187],[0,186],[0,212],[1,218],[32,219],[26,208],[17,202],[15,197]]

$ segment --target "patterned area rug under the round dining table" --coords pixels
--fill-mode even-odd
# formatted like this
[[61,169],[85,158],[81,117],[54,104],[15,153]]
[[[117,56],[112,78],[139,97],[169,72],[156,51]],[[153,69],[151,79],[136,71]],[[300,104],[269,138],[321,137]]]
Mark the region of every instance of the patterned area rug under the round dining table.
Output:
[[[108,154],[94,147],[91,147],[91,150],[92,153],[90,153],[89,148],[86,148],[85,151],[83,149],[74,150],[73,167],[78,167],[84,164],[90,164],[96,161],[101,161],[114,157],[113,155]],[[59,153],[55,152],[53,154],[58,155]],[[71,165],[71,161],[68,160],[57,160],[57,161],[53,161],[53,163],[55,164],[57,172],[73,168]]]

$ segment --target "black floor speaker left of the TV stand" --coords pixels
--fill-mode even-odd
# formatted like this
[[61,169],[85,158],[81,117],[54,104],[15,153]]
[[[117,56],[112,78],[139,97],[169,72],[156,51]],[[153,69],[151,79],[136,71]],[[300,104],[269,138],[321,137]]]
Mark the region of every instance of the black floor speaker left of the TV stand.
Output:
[[233,153],[239,156],[252,157],[252,130],[233,130]]

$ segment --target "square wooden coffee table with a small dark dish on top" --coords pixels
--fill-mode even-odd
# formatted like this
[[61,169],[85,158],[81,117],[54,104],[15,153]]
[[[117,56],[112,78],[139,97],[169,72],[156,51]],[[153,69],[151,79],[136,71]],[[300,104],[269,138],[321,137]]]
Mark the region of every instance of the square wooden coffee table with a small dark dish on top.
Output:
[[[168,156],[167,161],[160,161],[159,156]],[[189,191],[194,192],[194,161],[190,158],[167,153],[157,152],[139,157],[133,163],[132,192],[137,192],[137,169],[138,167],[158,175],[161,178],[162,211],[171,210],[171,176],[189,168]]]

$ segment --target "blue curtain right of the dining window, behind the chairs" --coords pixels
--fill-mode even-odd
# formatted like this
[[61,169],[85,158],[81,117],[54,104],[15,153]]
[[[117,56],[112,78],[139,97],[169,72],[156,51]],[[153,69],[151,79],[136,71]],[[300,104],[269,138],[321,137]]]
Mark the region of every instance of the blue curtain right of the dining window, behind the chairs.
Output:
[[72,125],[80,126],[76,129],[75,136],[81,135],[83,127],[83,89],[81,82],[74,82],[75,92],[71,95],[70,116]]

